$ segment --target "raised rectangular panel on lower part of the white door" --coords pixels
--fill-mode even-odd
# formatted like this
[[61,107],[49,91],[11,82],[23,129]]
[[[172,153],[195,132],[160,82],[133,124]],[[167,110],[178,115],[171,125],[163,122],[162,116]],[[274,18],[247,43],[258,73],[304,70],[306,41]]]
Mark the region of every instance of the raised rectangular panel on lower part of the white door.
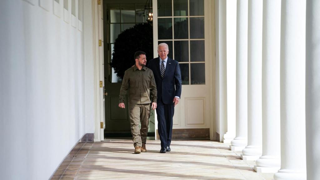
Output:
[[186,126],[205,126],[205,98],[185,98]]

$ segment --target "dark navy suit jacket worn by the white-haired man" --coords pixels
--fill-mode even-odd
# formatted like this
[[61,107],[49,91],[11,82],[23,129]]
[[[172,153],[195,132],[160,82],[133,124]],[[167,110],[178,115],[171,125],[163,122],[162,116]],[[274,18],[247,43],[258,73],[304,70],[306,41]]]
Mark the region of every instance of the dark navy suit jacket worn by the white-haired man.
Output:
[[174,96],[181,97],[181,71],[178,61],[168,57],[164,78],[160,75],[160,58],[157,57],[149,61],[148,68],[153,71],[157,85],[157,101],[165,104],[173,104]]

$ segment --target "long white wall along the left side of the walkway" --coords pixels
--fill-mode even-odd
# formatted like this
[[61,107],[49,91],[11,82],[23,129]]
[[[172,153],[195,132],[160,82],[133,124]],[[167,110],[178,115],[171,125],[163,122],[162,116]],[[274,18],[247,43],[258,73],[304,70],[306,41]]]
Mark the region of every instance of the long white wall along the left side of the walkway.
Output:
[[[91,92],[85,80],[90,86],[93,75],[85,72],[93,73],[93,65],[85,71],[84,33],[71,26],[71,9],[66,23],[63,13],[53,14],[53,0],[28,1],[34,4],[0,1],[1,179],[48,179],[77,141],[93,133],[85,121],[89,112],[93,123],[92,110],[85,110],[93,102],[85,98]],[[49,11],[39,2],[49,2],[43,3]]]

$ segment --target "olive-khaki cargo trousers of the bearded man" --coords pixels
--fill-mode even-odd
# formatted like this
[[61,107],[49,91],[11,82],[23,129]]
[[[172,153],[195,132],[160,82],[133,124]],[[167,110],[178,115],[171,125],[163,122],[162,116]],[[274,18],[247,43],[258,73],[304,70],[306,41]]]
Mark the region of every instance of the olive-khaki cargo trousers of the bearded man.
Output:
[[[150,103],[148,104],[132,104],[130,108],[130,126],[133,146],[142,146],[147,142],[150,117]],[[141,123],[141,128],[139,124]]]

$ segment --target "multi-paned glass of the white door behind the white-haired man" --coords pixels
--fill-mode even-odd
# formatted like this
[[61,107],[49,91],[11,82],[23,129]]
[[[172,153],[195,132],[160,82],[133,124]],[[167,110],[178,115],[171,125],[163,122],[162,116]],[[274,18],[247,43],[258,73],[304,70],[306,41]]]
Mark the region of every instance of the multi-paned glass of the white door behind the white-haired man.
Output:
[[205,84],[204,0],[158,1],[158,43],[180,64],[183,85]]

